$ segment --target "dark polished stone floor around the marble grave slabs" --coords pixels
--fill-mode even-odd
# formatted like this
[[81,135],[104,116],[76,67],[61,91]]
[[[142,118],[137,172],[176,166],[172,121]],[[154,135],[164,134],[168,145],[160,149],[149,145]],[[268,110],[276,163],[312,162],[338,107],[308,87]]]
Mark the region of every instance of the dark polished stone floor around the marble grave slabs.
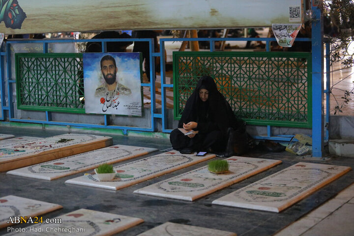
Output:
[[[85,130],[85,133],[88,132],[88,130]],[[0,133],[14,134],[16,137],[29,135],[36,137],[49,137],[63,134],[64,132],[60,130],[0,126]],[[157,152],[150,153],[142,157],[137,157],[132,160],[123,161],[119,164],[124,164],[149,155],[161,153],[167,148],[171,148],[168,139],[120,136],[112,134],[110,136],[113,137],[114,145],[123,144],[159,149]],[[288,152],[267,153],[258,150],[252,150],[245,156],[279,159],[282,160],[282,164],[194,202],[134,194],[133,191],[149,184],[153,184],[205,166],[207,164],[206,162],[202,162],[161,177],[156,177],[118,191],[64,183],[65,180],[81,176],[82,173],[62,177],[52,181],[37,180],[0,173],[0,196],[16,195],[39,201],[52,202],[63,206],[62,209],[45,214],[45,216],[49,218],[55,218],[61,214],[65,214],[79,208],[87,208],[142,218],[145,220],[144,223],[119,234],[123,236],[136,236],[167,221],[235,232],[238,236],[271,236],[276,233],[279,233],[280,235],[287,235],[287,232],[291,232],[292,236],[322,235],[323,225],[329,228],[327,229],[328,232],[335,231],[331,234],[332,236],[353,235],[352,224],[347,225],[347,221],[345,220],[338,221],[340,217],[343,219],[348,218],[348,220],[350,220],[354,215],[353,212],[350,211],[350,209],[352,209],[350,207],[353,206],[354,196],[353,186],[351,186],[354,183],[353,170],[280,213],[237,207],[215,206],[212,205],[211,202],[221,196],[235,191],[236,189],[251,184],[300,161],[350,166],[353,169],[354,158],[328,156],[328,158],[325,159],[306,159]],[[345,191],[343,193],[342,191],[349,186],[351,186],[349,189],[350,192]],[[335,206],[333,206],[333,204]],[[323,209],[322,207],[325,208]],[[334,220],[336,224],[326,223],[329,220]],[[301,229],[295,231],[294,233],[292,228],[286,228],[288,226],[296,226],[292,224],[300,224]],[[20,226],[17,225],[15,227]],[[23,227],[23,225],[21,227]],[[297,229],[298,227],[295,228]],[[283,231],[281,232],[281,230]],[[340,232],[340,234],[337,234],[336,232]],[[5,233],[6,228],[0,230],[0,235]]]

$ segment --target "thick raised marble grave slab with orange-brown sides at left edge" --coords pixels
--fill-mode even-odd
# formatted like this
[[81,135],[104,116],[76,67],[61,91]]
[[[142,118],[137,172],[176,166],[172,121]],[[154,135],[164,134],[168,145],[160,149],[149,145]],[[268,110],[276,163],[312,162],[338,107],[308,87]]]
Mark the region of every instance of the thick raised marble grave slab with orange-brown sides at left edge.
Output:
[[89,134],[63,134],[7,145],[0,148],[0,171],[13,170],[111,145],[111,137]]

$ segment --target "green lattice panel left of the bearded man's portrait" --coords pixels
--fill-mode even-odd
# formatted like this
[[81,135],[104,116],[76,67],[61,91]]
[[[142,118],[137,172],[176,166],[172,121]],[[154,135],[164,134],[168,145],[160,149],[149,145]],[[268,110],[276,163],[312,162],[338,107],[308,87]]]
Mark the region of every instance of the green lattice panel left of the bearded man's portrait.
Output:
[[18,109],[85,113],[82,54],[19,53],[15,58]]

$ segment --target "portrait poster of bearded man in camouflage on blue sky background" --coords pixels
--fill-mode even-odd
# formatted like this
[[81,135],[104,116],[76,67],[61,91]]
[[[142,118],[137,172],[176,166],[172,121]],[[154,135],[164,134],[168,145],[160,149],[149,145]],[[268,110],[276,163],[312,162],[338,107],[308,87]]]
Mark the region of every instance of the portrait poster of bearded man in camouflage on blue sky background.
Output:
[[85,112],[142,116],[141,53],[85,53]]

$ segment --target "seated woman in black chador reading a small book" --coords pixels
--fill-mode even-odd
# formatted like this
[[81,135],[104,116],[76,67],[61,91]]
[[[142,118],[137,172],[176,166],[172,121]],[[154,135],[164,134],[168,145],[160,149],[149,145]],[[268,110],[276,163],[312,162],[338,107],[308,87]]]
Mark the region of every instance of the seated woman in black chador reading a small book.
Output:
[[178,129],[171,132],[172,147],[181,153],[223,152],[231,133],[230,128],[245,133],[244,122],[235,117],[229,103],[217,90],[210,76],[203,76],[198,81],[196,89],[186,102],[178,128],[198,131],[197,134],[186,136]]

